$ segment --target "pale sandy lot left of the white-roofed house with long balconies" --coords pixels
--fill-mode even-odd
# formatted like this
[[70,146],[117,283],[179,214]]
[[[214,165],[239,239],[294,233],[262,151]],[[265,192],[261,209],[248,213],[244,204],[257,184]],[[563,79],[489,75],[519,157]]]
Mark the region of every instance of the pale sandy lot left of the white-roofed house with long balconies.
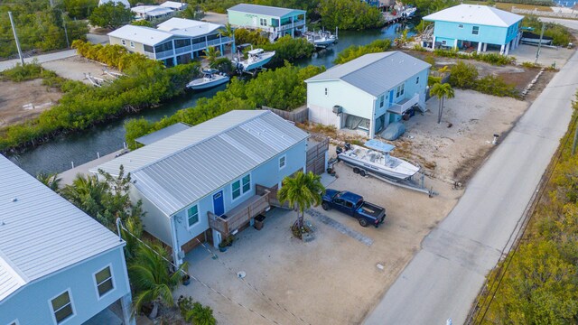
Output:
[[110,79],[104,74],[103,70],[108,69],[117,72],[117,70],[107,68],[106,64],[88,60],[79,55],[67,59],[44,62],[42,63],[42,67],[56,72],[56,74],[63,78],[79,80],[87,84],[90,84],[90,82],[89,79],[85,77],[85,73],[90,73],[93,77],[100,79]]

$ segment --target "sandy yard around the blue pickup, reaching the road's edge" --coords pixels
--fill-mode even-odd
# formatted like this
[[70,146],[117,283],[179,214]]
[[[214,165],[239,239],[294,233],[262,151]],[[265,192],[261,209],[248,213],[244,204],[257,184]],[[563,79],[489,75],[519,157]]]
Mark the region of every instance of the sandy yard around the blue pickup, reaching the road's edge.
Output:
[[[227,252],[219,253],[210,247],[219,256],[217,259],[201,246],[191,251],[185,258],[191,265],[191,274],[234,302],[281,324],[361,322],[409,263],[423,237],[452,209],[461,190],[451,190],[442,181],[430,181],[440,192],[430,199],[376,179],[362,178],[342,163],[336,165],[336,171],[339,178],[328,187],[354,190],[366,200],[386,207],[383,225],[361,228],[354,218],[315,208],[315,214],[337,221],[346,234],[323,223],[319,216],[306,214],[317,230],[315,239],[304,243],[292,237],[289,230],[295,213],[272,209],[261,231],[247,228],[238,233],[238,240]],[[356,233],[372,244],[368,246],[354,238]],[[378,264],[383,265],[383,270]],[[247,273],[245,281],[237,278],[239,271]],[[209,305],[219,324],[271,323],[194,281],[174,292],[175,297],[181,294]]]

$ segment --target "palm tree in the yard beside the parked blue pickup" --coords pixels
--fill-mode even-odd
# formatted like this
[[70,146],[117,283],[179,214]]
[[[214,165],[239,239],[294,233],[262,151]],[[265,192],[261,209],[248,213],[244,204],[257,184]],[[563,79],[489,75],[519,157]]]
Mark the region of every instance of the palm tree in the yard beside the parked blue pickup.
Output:
[[322,203],[322,194],[325,187],[322,185],[322,177],[312,172],[297,172],[294,177],[285,177],[283,187],[277,192],[277,198],[281,203],[289,202],[291,207],[297,210],[297,221],[293,228],[303,227],[303,213],[311,206]]

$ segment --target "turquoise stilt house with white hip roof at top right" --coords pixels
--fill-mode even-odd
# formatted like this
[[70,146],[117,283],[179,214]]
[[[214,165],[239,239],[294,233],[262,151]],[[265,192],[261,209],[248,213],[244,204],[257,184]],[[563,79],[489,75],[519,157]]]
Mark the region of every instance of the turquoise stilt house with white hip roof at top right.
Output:
[[508,55],[522,38],[522,18],[487,5],[455,5],[423,19],[434,23],[433,49],[495,50]]

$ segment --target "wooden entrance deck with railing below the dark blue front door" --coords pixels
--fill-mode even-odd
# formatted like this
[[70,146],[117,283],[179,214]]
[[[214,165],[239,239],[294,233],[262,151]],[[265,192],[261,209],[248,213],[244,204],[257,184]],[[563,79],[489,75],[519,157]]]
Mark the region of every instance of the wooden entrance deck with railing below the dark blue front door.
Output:
[[228,210],[221,217],[208,211],[209,226],[224,236],[228,236],[231,232],[246,225],[251,218],[265,212],[266,209],[269,209],[268,191],[265,191],[263,195],[252,196],[237,207]]

